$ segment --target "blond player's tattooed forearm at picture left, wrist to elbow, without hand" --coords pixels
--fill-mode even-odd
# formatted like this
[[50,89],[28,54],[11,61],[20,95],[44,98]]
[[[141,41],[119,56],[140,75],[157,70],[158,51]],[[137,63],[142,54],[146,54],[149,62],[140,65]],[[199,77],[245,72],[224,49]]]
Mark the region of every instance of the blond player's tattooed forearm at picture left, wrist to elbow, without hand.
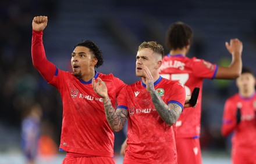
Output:
[[104,108],[106,113],[106,119],[114,132],[118,132],[123,129],[125,125],[128,112],[126,109],[118,108],[115,110],[112,106],[109,97],[104,98]]

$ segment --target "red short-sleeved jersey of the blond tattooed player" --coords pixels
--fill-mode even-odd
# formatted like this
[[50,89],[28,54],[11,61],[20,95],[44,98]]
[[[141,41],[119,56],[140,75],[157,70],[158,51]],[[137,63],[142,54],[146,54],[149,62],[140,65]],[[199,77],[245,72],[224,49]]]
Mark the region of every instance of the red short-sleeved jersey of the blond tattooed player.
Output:
[[[160,76],[154,86],[166,104],[176,103],[183,108],[183,85]],[[176,163],[175,125],[163,122],[145,87],[138,81],[126,86],[118,96],[118,107],[129,111],[124,163]]]

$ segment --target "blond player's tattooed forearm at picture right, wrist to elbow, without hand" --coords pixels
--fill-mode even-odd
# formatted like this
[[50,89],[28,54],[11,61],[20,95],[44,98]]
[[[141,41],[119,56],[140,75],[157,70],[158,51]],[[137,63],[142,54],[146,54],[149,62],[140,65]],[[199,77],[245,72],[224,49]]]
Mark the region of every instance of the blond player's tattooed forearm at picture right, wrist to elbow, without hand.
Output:
[[175,103],[171,103],[169,105],[165,104],[161,97],[158,96],[157,92],[151,92],[150,95],[155,105],[155,108],[162,120],[169,126],[175,124],[182,112],[182,108],[180,107],[180,105],[177,105]]

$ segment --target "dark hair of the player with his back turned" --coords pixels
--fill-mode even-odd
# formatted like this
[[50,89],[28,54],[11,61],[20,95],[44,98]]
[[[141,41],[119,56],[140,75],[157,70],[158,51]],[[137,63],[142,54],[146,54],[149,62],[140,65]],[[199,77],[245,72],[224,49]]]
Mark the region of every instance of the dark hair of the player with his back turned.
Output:
[[182,49],[193,39],[193,30],[189,25],[178,21],[168,28],[166,33],[166,47],[170,50]]

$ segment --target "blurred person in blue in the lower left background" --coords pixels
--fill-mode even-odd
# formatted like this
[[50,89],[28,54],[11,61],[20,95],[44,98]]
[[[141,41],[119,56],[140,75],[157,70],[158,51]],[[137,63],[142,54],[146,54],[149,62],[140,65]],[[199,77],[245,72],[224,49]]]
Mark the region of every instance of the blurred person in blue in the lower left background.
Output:
[[22,121],[22,150],[27,164],[34,164],[38,155],[41,118],[41,105],[34,103],[28,108],[27,114]]

